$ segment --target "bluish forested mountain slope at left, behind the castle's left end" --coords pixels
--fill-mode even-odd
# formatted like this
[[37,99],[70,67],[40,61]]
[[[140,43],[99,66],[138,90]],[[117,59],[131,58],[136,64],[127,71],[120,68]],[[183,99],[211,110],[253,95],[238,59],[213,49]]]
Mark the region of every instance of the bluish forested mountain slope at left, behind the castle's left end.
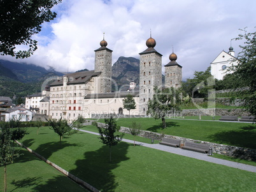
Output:
[[46,70],[32,64],[0,60],[0,96],[10,97],[13,103],[18,104],[16,101],[19,97],[24,98],[32,93],[41,92],[43,81],[56,75],[63,74],[53,68]]

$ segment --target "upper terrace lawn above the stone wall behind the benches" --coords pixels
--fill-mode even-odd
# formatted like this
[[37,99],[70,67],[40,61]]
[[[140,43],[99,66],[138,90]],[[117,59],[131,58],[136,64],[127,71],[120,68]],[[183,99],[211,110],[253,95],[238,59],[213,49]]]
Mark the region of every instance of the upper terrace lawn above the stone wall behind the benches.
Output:
[[167,119],[167,128],[162,129],[161,120],[119,118],[117,125],[131,127],[132,121],[141,123],[143,130],[151,132],[256,149],[256,125],[252,123]]

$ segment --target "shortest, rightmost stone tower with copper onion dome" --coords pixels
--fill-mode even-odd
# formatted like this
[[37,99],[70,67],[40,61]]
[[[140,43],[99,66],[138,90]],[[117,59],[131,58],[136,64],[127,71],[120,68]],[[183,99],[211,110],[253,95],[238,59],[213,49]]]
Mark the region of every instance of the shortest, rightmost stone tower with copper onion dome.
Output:
[[182,81],[182,67],[181,65],[177,64],[177,55],[175,53],[171,53],[169,59],[171,61],[167,65],[164,65],[165,87],[179,88]]

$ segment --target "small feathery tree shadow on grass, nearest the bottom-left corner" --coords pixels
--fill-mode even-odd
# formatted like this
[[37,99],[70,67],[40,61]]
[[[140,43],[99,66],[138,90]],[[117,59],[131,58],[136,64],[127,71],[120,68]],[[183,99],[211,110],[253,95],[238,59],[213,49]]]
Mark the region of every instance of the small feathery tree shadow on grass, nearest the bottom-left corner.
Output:
[[13,184],[16,188],[11,191],[20,191],[21,188],[28,188],[31,186],[37,186],[39,182],[41,182],[42,177],[27,177],[25,179],[22,179],[20,181],[11,181],[11,184]]

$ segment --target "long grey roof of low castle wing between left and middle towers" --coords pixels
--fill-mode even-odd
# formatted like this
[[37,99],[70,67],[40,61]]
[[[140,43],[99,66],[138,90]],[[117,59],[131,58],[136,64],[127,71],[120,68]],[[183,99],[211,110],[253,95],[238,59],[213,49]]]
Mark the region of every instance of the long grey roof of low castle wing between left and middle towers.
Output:
[[85,99],[104,99],[127,97],[130,94],[133,97],[139,97],[139,92],[112,92],[112,93],[95,93],[85,95]]

